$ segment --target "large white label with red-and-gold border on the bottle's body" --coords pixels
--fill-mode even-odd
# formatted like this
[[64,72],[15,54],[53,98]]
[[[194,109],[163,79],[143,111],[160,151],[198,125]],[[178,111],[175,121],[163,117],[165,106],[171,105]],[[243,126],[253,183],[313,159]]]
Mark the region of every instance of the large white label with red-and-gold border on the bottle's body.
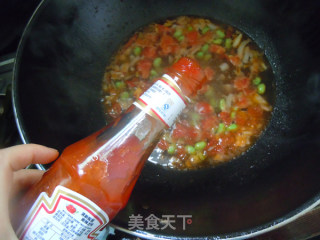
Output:
[[62,186],[41,193],[17,231],[20,240],[96,239],[108,215],[86,197]]

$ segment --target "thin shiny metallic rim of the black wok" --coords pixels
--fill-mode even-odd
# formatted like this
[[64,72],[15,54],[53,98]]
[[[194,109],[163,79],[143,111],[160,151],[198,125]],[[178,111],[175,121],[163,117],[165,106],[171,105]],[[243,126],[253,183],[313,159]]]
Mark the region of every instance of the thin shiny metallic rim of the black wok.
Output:
[[[22,140],[23,144],[29,144],[31,143],[27,137],[27,134],[23,130],[23,120],[20,118],[19,113],[19,101],[18,101],[18,94],[17,94],[17,82],[18,82],[18,72],[20,69],[20,62],[21,62],[21,55],[24,50],[24,45],[26,42],[26,39],[28,38],[28,33],[32,30],[32,24],[34,21],[36,21],[36,16],[41,13],[42,9],[46,6],[46,3],[48,3],[48,0],[41,0],[37,8],[34,10],[33,14],[31,15],[27,25],[24,28],[23,34],[20,38],[18,48],[15,55],[15,62],[13,66],[13,75],[12,75],[12,90],[11,90],[11,99],[12,99],[12,108],[14,113],[15,122],[17,125],[18,133],[20,135],[20,139]],[[38,170],[47,170],[42,164],[34,164],[34,166]],[[230,234],[220,234],[215,236],[166,236],[166,235],[160,235],[160,234],[152,234],[147,231],[132,231],[128,228],[118,226],[116,224],[113,224],[112,222],[108,223],[107,226],[111,226],[121,232],[125,232],[127,234],[136,236],[136,237],[142,237],[142,238],[148,238],[148,239],[154,239],[154,240],[160,240],[160,239],[230,239],[230,240],[238,240],[238,239],[244,239],[244,238],[252,238],[259,236],[261,234],[276,230],[280,227],[283,227],[304,214],[310,212],[312,209],[314,209],[316,206],[320,205],[320,193],[317,193],[314,197],[309,199],[307,202],[299,206],[298,208],[295,208],[294,210],[289,211],[287,214],[283,215],[280,218],[276,218],[273,221],[269,221],[264,224],[260,224],[256,227],[252,227],[243,231],[237,231],[232,232]]]

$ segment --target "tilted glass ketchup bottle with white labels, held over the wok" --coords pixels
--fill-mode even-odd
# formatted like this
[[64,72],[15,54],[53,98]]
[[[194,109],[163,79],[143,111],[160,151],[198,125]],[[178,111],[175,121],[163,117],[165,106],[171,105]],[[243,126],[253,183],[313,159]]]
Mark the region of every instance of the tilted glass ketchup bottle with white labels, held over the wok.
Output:
[[181,58],[114,122],[68,146],[21,199],[19,239],[95,239],[126,205],[162,131],[204,74]]

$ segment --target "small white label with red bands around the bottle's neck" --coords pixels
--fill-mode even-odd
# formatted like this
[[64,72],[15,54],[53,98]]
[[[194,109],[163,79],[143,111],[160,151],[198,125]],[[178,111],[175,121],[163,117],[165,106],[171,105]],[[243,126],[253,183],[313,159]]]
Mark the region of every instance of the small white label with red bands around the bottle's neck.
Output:
[[186,107],[186,101],[175,81],[165,74],[134,105],[170,127]]

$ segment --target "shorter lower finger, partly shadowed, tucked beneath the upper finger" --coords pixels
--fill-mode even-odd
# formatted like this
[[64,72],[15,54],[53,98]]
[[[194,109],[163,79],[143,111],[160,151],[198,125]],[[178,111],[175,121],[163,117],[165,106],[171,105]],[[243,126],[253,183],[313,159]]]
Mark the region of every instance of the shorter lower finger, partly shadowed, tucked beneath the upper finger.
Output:
[[40,180],[44,173],[44,171],[36,169],[22,169],[16,171],[13,175],[13,183],[10,191],[10,196],[15,196],[19,192],[30,188]]

